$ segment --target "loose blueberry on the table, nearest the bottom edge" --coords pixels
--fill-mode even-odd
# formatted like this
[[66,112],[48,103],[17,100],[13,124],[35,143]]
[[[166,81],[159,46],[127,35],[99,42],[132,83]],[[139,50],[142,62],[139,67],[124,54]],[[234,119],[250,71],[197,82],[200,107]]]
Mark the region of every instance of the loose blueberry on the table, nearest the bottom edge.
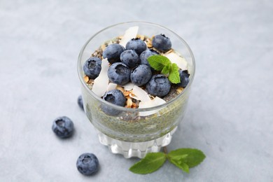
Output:
[[83,153],[78,157],[76,166],[81,174],[93,175],[99,171],[99,160],[92,153]]

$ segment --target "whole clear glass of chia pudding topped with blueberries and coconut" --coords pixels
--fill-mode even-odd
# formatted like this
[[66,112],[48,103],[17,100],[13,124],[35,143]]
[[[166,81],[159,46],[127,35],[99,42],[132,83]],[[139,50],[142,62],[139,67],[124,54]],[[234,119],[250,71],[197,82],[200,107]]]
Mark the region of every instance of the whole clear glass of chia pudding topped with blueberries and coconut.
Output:
[[[151,64],[151,57],[158,56],[175,64],[179,83],[170,82],[172,66],[161,70]],[[170,144],[185,115],[194,75],[195,59],[186,41],[150,22],[106,27],[78,57],[87,118],[100,143],[125,158],[144,158]]]

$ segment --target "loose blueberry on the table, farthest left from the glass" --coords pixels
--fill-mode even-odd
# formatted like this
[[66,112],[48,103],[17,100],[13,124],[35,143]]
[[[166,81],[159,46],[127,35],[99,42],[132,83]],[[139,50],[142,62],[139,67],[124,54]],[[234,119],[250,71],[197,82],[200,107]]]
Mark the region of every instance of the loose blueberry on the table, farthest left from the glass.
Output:
[[62,116],[54,120],[52,130],[58,137],[64,139],[71,137],[73,134],[74,125],[70,118]]

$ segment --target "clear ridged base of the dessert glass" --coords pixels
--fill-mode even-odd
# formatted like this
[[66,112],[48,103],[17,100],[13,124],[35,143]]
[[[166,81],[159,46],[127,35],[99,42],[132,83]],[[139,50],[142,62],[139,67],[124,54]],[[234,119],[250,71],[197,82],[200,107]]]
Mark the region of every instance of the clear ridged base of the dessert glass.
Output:
[[177,127],[163,137],[144,142],[127,142],[113,139],[106,136],[102,132],[98,132],[99,142],[104,146],[108,146],[111,153],[119,153],[124,158],[144,158],[147,153],[157,153],[163,146],[167,146],[172,141],[172,134]]

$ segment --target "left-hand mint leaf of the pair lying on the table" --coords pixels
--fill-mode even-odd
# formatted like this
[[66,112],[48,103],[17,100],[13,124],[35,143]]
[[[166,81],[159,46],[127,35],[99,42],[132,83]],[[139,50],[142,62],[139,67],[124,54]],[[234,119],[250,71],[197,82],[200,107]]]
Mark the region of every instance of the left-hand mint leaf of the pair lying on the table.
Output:
[[166,160],[165,153],[147,153],[145,158],[130,167],[130,171],[136,174],[148,174],[158,170]]

